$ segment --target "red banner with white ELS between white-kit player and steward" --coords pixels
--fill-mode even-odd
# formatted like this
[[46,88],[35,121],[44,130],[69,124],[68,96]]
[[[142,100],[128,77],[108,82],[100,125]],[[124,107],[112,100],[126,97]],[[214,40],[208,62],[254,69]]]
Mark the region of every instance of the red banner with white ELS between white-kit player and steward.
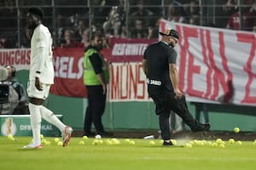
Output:
[[55,84],[51,86],[52,94],[85,97],[84,87],[84,49],[55,48]]

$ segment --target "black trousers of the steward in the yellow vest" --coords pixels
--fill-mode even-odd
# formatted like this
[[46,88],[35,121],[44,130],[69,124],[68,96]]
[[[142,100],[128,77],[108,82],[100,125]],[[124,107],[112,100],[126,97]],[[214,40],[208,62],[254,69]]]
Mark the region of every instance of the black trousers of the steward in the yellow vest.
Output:
[[96,133],[102,133],[104,132],[102,115],[106,106],[106,94],[102,94],[102,85],[85,87],[88,94],[88,105],[84,117],[84,133],[90,133],[92,123],[96,128]]

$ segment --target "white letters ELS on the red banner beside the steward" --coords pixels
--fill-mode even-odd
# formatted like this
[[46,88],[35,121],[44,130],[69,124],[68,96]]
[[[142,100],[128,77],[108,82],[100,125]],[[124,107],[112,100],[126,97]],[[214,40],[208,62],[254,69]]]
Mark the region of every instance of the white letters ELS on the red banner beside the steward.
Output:
[[[84,72],[83,61],[83,57],[79,59],[78,63],[74,62],[74,57],[72,56],[55,57],[55,77],[80,79]],[[78,65],[79,71],[73,71],[74,64]]]

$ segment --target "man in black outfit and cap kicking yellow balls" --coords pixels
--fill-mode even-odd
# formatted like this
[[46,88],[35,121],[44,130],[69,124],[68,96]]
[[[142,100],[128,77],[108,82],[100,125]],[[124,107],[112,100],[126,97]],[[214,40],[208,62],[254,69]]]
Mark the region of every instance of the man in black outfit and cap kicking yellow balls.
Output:
[[174,49],[179,38],[177,31],[166,29],[160,35],[161,41],[150,44],[144,52],[143,71],[147,76],[148,94],[154,100],[155,113],[159,116],[163,145],[172,145],[171,111],[181,116],[193,132],[207,131],[211,126],[210,123],[197,122],[191,116],[185,96],[178,88],[177,52]]

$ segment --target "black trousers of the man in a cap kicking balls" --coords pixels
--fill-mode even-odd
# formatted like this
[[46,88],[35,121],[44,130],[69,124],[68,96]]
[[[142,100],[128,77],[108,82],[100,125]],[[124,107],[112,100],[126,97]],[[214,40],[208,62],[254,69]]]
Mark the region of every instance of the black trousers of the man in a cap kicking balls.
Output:
[[195,127],[197,125],[197,122],[189,112],[185,96],[183,96],[182,99],[175,99],[174,94],[168,91],[150,90],[150,88],[148,88],[148,94],[154,100],[155,114],[159,116],[162,139],[171,139],[169,125],[171,111],[174,111],[178,116],[181,116],[183,122],[189,125],[189,127]]

